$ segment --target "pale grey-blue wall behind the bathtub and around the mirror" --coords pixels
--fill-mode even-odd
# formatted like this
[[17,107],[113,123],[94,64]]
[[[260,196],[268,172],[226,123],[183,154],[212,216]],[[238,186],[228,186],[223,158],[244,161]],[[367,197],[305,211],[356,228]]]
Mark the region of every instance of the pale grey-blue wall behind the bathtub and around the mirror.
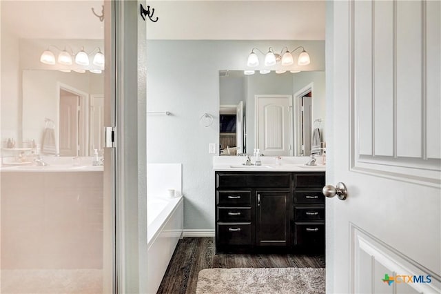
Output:
[[[214,171],[208,144],[218,142],[219,70],[243,70],[253,47],[305,46],[325,69],[324,41],[147,41],[147,161],[183,164],[186,229],[214,229]],[[199,122],[205,113],[212,126]],[[216,145],[217,146],[217,145]]]

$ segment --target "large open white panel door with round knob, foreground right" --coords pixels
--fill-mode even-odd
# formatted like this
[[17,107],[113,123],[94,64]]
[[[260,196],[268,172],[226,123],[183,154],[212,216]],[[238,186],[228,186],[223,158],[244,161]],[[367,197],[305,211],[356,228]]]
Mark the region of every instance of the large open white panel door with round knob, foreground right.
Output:
[[441,2],[328,8],[327,293],[440,293]]

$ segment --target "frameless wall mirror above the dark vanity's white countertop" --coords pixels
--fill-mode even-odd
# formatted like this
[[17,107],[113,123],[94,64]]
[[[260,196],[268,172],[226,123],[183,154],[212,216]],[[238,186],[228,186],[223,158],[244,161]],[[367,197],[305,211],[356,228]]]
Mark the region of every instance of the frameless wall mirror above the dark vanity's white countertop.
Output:
[[309,156],[325,141],[323,71],[220,70],[219,97],[220,155]]

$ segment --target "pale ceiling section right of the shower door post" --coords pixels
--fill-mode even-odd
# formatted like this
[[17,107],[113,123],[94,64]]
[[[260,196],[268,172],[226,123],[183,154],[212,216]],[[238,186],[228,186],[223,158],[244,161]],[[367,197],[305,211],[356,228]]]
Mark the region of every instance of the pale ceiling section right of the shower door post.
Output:
[[326,1],[148,1],[147,39],[324,40]]

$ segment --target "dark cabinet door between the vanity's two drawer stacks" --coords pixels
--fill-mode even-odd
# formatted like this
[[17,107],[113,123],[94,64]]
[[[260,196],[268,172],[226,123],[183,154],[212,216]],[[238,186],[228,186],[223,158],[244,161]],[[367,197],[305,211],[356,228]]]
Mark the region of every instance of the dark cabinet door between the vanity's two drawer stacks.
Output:
[[289,246],[289,191],[256,191],[258,246]]

